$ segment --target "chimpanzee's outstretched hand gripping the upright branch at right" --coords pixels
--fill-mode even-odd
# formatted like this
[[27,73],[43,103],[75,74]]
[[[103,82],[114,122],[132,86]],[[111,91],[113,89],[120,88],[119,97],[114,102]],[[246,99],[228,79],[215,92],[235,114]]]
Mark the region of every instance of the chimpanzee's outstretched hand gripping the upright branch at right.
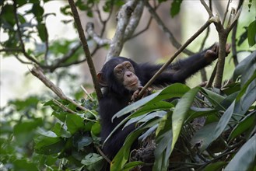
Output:
[[[230,54],[230,44],[226,44],[226,56]],[[219,44],[214,44],[211,49],[205,51],[205,58],[207,61],[212,62],[218,58]]]

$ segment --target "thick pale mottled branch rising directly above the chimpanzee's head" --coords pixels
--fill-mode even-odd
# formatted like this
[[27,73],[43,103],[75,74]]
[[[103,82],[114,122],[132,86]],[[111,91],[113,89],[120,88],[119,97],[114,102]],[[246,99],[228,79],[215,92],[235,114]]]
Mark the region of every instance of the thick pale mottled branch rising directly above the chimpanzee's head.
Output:
[[122,5],[121,9],[117,14],[117,30],[115,31],[114,37],[110,44],[110,50],[107,53],[106,61],[109,61],[110,58],[118,56],[121,53],[121,49],[124,46],[124,33],[132,12],[135,9],[135,6],[138,4],[139,0],[132,0],[126,2]]

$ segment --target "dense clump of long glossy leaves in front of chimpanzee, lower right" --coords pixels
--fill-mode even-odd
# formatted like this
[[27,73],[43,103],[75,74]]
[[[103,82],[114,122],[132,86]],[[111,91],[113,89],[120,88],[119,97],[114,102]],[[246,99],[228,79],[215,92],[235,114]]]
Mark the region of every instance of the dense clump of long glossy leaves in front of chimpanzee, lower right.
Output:
[[[168,167],[203,169],[205,166],[207,170],[212,168],[235,170],[237,165],[231,164],[233,162],[239,163],[240,170],[254,168],[256,156],[254,146],[256,141],[255,60],[256,51],[237,66],[234,79],[240,77],[242,82],[234,82],[222,89],[212,91],[201,87],[189,89],[187,86],[176,83],[118,112],[114,117],[121,117],[140,107],[140,110],[133,112],[124,120],[128,124],[139,122],[139,127],[126,139],[123,148],[114,158],[111,168],[121,170],[125,167],[129,156],[127,151],[132,145],[130,138],[138,138],[138,132],[144,131],[151,125],[157,125],[150,130],[156,138],[156,160],[153,170],[167,170]],[[248,72],[245,68],[252,71]],[[248,73],[250,75],[247,75]],[[160,101],[169,101],[168,99],[174,97],[181,97],[181,99],[178,102],[176,99],[171,102]],[[191,103],[193,103],[192,107]],[[156,114],[161,111],[161,115]],[[200,118],[204,120],[202,123],[192,122]],[[202,124],[199,130],[196,124]],[[148,132],[147,134],[149,135]],[[183,143],[183,149],[177,141],[179,144]],[[245,143],[246,141],[251,141],[252,144]],[[172,154],[177,155],[177,153],[182,160],[172,162],[172,159],[177,157]],[[247,162],[244,162],[245,155],[247,155]],[[229,162],[230,164],[227,165]],[[216,163],[219,163],[218,166]]]

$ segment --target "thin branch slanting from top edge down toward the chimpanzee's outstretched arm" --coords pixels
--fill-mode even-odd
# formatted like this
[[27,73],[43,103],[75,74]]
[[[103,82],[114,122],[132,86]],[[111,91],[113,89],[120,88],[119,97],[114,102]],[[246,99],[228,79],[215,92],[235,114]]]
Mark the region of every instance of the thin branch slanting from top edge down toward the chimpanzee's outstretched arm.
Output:
[[[160,28],[163,30],[163,32],[167,34],[167,37],[169,38],[171,44],[173,44],[174,47],[176,47],[177,49],[180,48],[181,44],[177,42],[176,38],[174,37],[174,34],[171,33],[171,31],[167,28],[167,26],[165,26],[163,21],[160,19],[160,16],[157,15],[155,9],[153,9],[153,7],[149,4],[148,1],[144,1],[144,2],[145,2],[147,9],[149,10],[149,13],[156,20],[156,23],[158,23],[158,26],[160,26]],[[192,51],[189,51],[188,49],[184,49],[183,52],[184,52],[184,54],[188,54],[188,55],[195,54]]]

